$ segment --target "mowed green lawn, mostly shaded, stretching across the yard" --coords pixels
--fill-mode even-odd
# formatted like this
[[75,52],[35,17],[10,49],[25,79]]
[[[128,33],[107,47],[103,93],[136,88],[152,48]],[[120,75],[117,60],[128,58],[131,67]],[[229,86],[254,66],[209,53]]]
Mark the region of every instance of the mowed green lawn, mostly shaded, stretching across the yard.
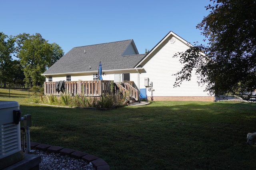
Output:
[[[32,115],[31,141],[87,152],[113,170],[254,169],[256,104],[151,102],[107,111],[34,104],[13,90],[22,115]],[[17,97],[23,96],[23,97]]]

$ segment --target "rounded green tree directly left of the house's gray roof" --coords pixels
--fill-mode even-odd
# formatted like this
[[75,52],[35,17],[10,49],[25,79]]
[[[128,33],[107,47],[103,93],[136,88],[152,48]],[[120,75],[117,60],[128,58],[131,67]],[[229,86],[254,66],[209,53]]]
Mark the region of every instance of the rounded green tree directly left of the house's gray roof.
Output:
[[16,43],[17,57],[25,74],[24,82],[28,85],[42,85],[44,77],[41,74],[64,55],[61,47],[48,43],[39,33],[17,35]]

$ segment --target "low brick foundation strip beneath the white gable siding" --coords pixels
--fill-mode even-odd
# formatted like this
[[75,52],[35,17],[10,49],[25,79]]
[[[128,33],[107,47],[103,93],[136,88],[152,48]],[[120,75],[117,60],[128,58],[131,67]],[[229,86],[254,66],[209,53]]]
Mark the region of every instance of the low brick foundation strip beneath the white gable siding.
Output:
[[[151,96],[148,96],[151,101]],[[198,101],[214,102],[214,96],[153,96],[154,101]]]

